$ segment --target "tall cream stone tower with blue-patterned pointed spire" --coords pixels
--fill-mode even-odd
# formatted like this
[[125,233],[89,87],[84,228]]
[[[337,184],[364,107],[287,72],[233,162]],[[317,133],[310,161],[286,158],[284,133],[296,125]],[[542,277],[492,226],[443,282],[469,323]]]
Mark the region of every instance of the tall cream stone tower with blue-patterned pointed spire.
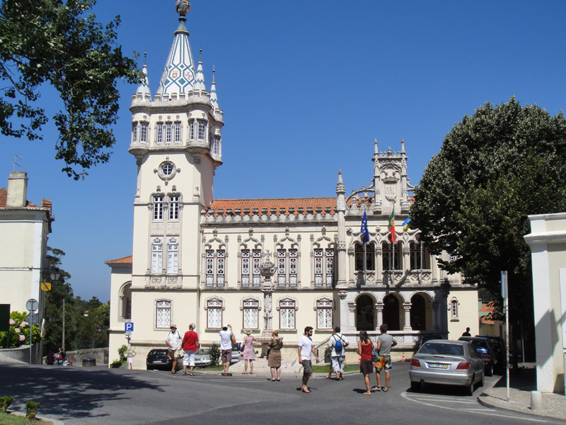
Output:
[[[164,307],[171,306],[173,297],[179,305],[198,305],[200,215],[212,203],[214,170],[222,164],[224,123],[214,74],[207,91],[202,62],[193,60],[185,26],[190,2],[177,1],[176,9],[179,26],[154,99],[144,65],[146,77],[130,108],[129,152],[138,166],[131,318],[137,326],[154,330],[160,328],[159,312],[155,321],[137,311],[136,306],[145,304],[137,298],[151,293]],[[163,314],[170,316],[171,308],[163,308]],[[163,323],[169,319],[163,317]]]

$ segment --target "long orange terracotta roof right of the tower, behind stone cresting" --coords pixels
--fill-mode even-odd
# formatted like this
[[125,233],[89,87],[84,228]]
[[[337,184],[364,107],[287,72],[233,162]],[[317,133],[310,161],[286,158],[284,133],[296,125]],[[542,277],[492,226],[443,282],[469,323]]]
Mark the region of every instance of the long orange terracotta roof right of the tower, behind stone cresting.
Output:
[[336,198],[216,199],[205,215],[334,215],[335,208]]

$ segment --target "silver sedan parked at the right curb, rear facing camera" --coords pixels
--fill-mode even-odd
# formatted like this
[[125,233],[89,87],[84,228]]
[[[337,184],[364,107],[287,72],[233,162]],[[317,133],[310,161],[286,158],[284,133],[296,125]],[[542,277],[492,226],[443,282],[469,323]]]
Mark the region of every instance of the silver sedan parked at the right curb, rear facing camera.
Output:
[[422,383],[462,385],[472,395],[476,382],[483,386],[483,370],[482,358],[468,341],[433,339],[412,356],[411,389],[419,391]]

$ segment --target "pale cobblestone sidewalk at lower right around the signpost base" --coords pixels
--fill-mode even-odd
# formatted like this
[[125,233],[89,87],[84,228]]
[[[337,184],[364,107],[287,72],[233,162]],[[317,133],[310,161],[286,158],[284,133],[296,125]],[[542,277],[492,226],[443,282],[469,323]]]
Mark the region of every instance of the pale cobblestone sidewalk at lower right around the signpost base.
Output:
[[536,390],[536,369],[521,370],[509,378],[509,402],[505,375],[493,387],[485,390],[478,401],[487,407],[512,410],[566,421],[566,397],[561,394],[543,393],[541,408],[531,409],[531,391]]

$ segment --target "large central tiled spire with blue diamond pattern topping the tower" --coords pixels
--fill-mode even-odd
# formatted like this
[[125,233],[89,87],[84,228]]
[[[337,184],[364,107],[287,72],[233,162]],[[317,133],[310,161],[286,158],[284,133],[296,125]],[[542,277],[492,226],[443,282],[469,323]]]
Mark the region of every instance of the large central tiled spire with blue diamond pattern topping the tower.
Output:
[[159,89],[156,95],[163,98],[164,96],[178,97],[192,90],[195,84],[195,61],[192,59],[192,52],[189,45],[189,32],[185,26],[187,18],[185,16],[190,11],[190,2],[187,0],[178,0],[176,9],[179,13],[179,26],[175,30],[175,38],[171,51],[159,81]]

